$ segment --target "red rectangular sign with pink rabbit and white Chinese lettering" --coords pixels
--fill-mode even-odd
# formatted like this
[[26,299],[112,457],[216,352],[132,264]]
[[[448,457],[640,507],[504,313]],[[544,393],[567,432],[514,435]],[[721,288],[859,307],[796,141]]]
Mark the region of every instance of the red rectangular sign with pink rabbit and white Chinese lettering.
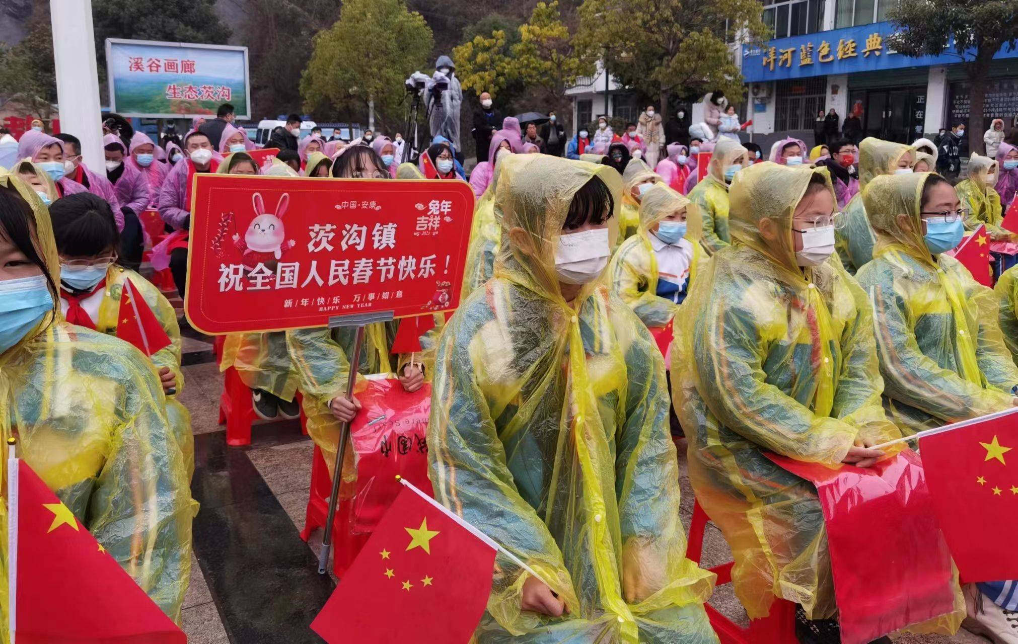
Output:
[[184,311],[207,334],[455,309],[473,217],[462,181],[197,174]]

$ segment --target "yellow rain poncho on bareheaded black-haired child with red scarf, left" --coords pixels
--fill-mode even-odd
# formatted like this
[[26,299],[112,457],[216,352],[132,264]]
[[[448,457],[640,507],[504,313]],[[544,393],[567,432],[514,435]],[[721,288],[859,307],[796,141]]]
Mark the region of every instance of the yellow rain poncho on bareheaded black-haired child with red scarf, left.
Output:
[[[124,282],[130,280],[134,290],[140,293],[146,304],[155,313],[159,320],[159,326],[163,328],[170,338],[170,346],[160,349],[152,354],[152,362],[156,369],[163,367],[173,371],[176,377],[176,394],[166,398],[166,416],[173,428],[173,435],[180,446],[184,457],[184,468],[187,470],[187,479],[190,480],[194,473],[194,434],[191,432],[190,412],[184,407],[178,397],[184,389],[184,374],[180,368],[180,351],[182,341],[180,340],[180,326],[177,323],[177,312],[170,304],[170,301],[153,286],[151,282],[143,278],[130,269],[119,266],[111,266],[106,272],[106,292],[102,302],[99,304],[99,315],[96,318],[96,331],[110,336],[117,335],[117,323],[120,312],[120,297],[123,293]],[[196,505],[196,504],[195,504]],[[195,508],[196,510],[196,508]]]

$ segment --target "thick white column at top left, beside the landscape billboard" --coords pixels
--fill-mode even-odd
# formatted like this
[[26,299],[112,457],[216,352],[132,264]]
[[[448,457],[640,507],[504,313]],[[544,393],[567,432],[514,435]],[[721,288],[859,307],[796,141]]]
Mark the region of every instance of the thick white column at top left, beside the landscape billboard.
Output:
[[103,154],[99,74],[92,28],[92,0],[51,0],[60,131],[81,141],[84,163],[101,171]]

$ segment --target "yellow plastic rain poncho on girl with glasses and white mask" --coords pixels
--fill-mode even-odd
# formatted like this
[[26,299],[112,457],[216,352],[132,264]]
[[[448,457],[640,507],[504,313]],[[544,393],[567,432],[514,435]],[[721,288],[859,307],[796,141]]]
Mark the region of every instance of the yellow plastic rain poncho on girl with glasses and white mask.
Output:
[[[827,169],[765,162],[735,175],[732,246],[686,297],[672,345],[672,400],[689,441],[696,499],[732,552],[735,593],[750,618],[775,596],[810,619],[836,611],[815,488],[764,453],[840,463],[857,440],[900,436],[881,407],[872,320],[836,258],[797,266],[792,214]],[[758,233],[762,219],[778,240]]]

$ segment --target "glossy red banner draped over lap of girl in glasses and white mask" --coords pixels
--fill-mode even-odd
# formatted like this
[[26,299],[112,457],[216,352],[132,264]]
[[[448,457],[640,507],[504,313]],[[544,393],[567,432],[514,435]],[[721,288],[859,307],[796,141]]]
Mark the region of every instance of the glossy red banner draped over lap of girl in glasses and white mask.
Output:
[[870,468],[768,457],[816,486],[843,644],[954,609],[951,553],[914,452]]

